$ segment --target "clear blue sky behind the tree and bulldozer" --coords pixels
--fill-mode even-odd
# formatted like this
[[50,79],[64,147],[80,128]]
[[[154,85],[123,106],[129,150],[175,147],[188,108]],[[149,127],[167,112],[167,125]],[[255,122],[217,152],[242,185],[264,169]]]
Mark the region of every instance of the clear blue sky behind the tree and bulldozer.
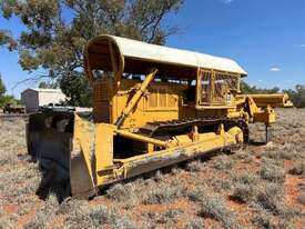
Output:
[[[170,22],[181,28],[167,46],[228,57],[247,72],[246,81],[258,87],[293,88],[305,84],[305,0],[185,0]],[[1,29],[17,36],[18,20],[0,18]],[[18,56],[0,49],[0,72],[8,92],[19,96],[27,87],[12,86],[29,77]]]

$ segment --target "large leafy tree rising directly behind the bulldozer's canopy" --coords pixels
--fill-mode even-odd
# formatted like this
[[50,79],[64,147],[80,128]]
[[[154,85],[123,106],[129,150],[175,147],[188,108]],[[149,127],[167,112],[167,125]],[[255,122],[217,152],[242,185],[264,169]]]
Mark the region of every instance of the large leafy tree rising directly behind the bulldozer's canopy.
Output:
[[[84,104],[79,99],[91,93],[83,79],[87,41],[110,33],[164,44],[167,36],[176,31],[164,19],[176,13],[182,3],[183,0],[2,0],[2,16],[18,17],[26,30],[17,39],[9,31],[0,31],[0,44],[18,51],[23,70],[44,70],[35,80],[55,79],[63,92],[72,96],[72,103]],[[78,87],[84,90],[75,90]]]

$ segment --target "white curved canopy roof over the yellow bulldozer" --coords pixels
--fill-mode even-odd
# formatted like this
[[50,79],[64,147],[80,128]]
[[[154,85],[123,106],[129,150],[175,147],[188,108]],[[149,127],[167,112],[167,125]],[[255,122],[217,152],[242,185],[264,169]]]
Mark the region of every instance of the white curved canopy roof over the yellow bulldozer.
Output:
[[[114,36],[92,39],[84,52],[87,70],[104,70],[126,73],[146,73],[157,68],[159,74],[187,77],[197,68],[213,69],[246,76],[238,63],[227,58],[167,48]],[[89,71],[90,72],[90,71]]]

